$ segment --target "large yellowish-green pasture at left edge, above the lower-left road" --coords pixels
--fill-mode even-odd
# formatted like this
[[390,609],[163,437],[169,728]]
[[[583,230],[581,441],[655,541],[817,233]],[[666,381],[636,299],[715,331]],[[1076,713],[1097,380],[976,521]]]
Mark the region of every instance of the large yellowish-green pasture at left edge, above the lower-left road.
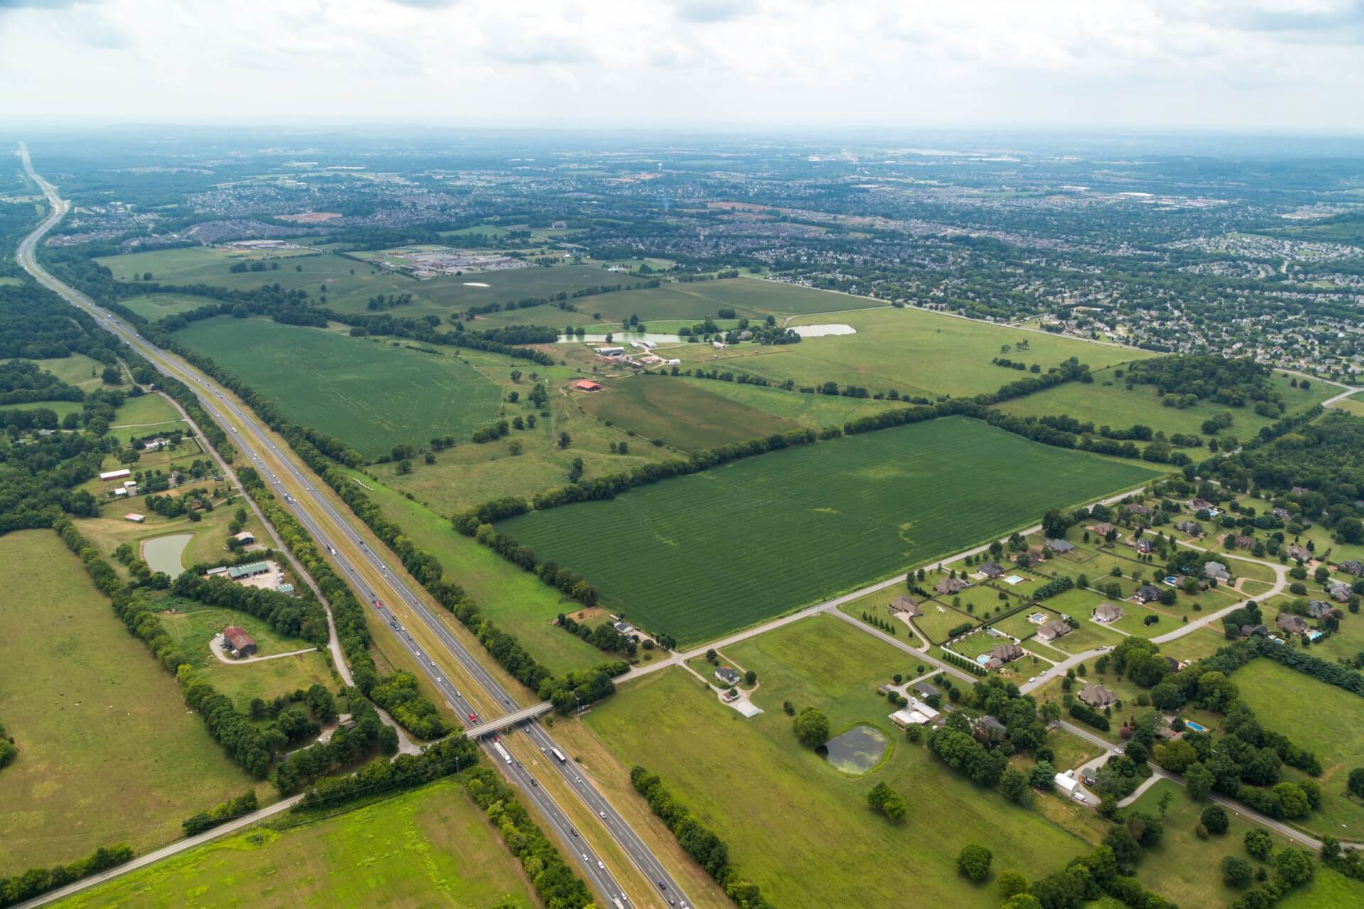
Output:
[[0,876],[117,841],[146,852],[180,837],[181,819],[256,785],[186,711],[175,677],[55,533],[5,534],[0,570],[11,591],[0,609],[0,718],[19,745],[0,771]]

